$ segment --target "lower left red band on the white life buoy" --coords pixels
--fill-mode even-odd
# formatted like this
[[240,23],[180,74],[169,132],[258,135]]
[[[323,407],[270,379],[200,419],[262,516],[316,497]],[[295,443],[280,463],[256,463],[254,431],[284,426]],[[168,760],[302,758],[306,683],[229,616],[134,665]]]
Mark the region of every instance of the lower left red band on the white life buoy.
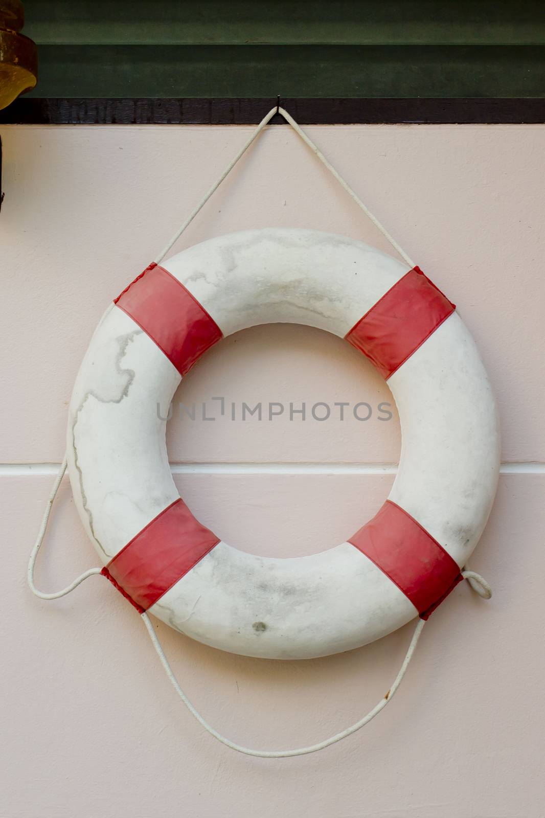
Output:
[[142,613],[218,542],[178,498],[142,528],[101,573]]

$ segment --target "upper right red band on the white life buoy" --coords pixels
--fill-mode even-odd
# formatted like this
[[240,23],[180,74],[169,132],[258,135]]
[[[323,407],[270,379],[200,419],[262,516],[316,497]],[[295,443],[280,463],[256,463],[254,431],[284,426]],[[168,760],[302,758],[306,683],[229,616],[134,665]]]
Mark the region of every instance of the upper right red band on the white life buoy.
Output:
[[413,267],[359,319],[345,339],[367,355],[387,379],[455,309],[421,269]]

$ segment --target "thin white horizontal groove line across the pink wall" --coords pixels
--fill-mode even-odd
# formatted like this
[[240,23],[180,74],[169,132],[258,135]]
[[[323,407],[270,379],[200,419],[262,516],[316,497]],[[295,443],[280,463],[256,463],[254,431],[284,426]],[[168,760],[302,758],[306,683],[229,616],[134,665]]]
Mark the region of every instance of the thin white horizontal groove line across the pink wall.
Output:
[[[0,477],[51,474],[59,463],[2,463]],[[171,463],[173,474],[396,474],[396,463]],[[502,463],[500,474],[545,474],[545,463]]]

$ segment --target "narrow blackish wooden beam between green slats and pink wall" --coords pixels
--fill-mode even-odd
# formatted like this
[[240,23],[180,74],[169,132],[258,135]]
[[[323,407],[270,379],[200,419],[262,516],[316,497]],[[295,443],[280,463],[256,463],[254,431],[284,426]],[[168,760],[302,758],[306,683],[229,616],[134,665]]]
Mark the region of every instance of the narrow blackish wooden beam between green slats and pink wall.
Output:
[[[94,99],[21,97],[0,124],[257,124],[276,98]],[[545,99],[282,98],[301,124],[545,123]],[[282,124],[274,117],[272,124]]]

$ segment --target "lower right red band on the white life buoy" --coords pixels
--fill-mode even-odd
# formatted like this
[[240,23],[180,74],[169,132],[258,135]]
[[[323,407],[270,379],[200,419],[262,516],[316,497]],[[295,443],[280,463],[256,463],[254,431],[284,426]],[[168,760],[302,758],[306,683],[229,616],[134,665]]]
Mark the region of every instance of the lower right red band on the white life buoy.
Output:
[[348,542],[390,577],[422,619],[427,619],[462,580],[451,555],[391,500]]

